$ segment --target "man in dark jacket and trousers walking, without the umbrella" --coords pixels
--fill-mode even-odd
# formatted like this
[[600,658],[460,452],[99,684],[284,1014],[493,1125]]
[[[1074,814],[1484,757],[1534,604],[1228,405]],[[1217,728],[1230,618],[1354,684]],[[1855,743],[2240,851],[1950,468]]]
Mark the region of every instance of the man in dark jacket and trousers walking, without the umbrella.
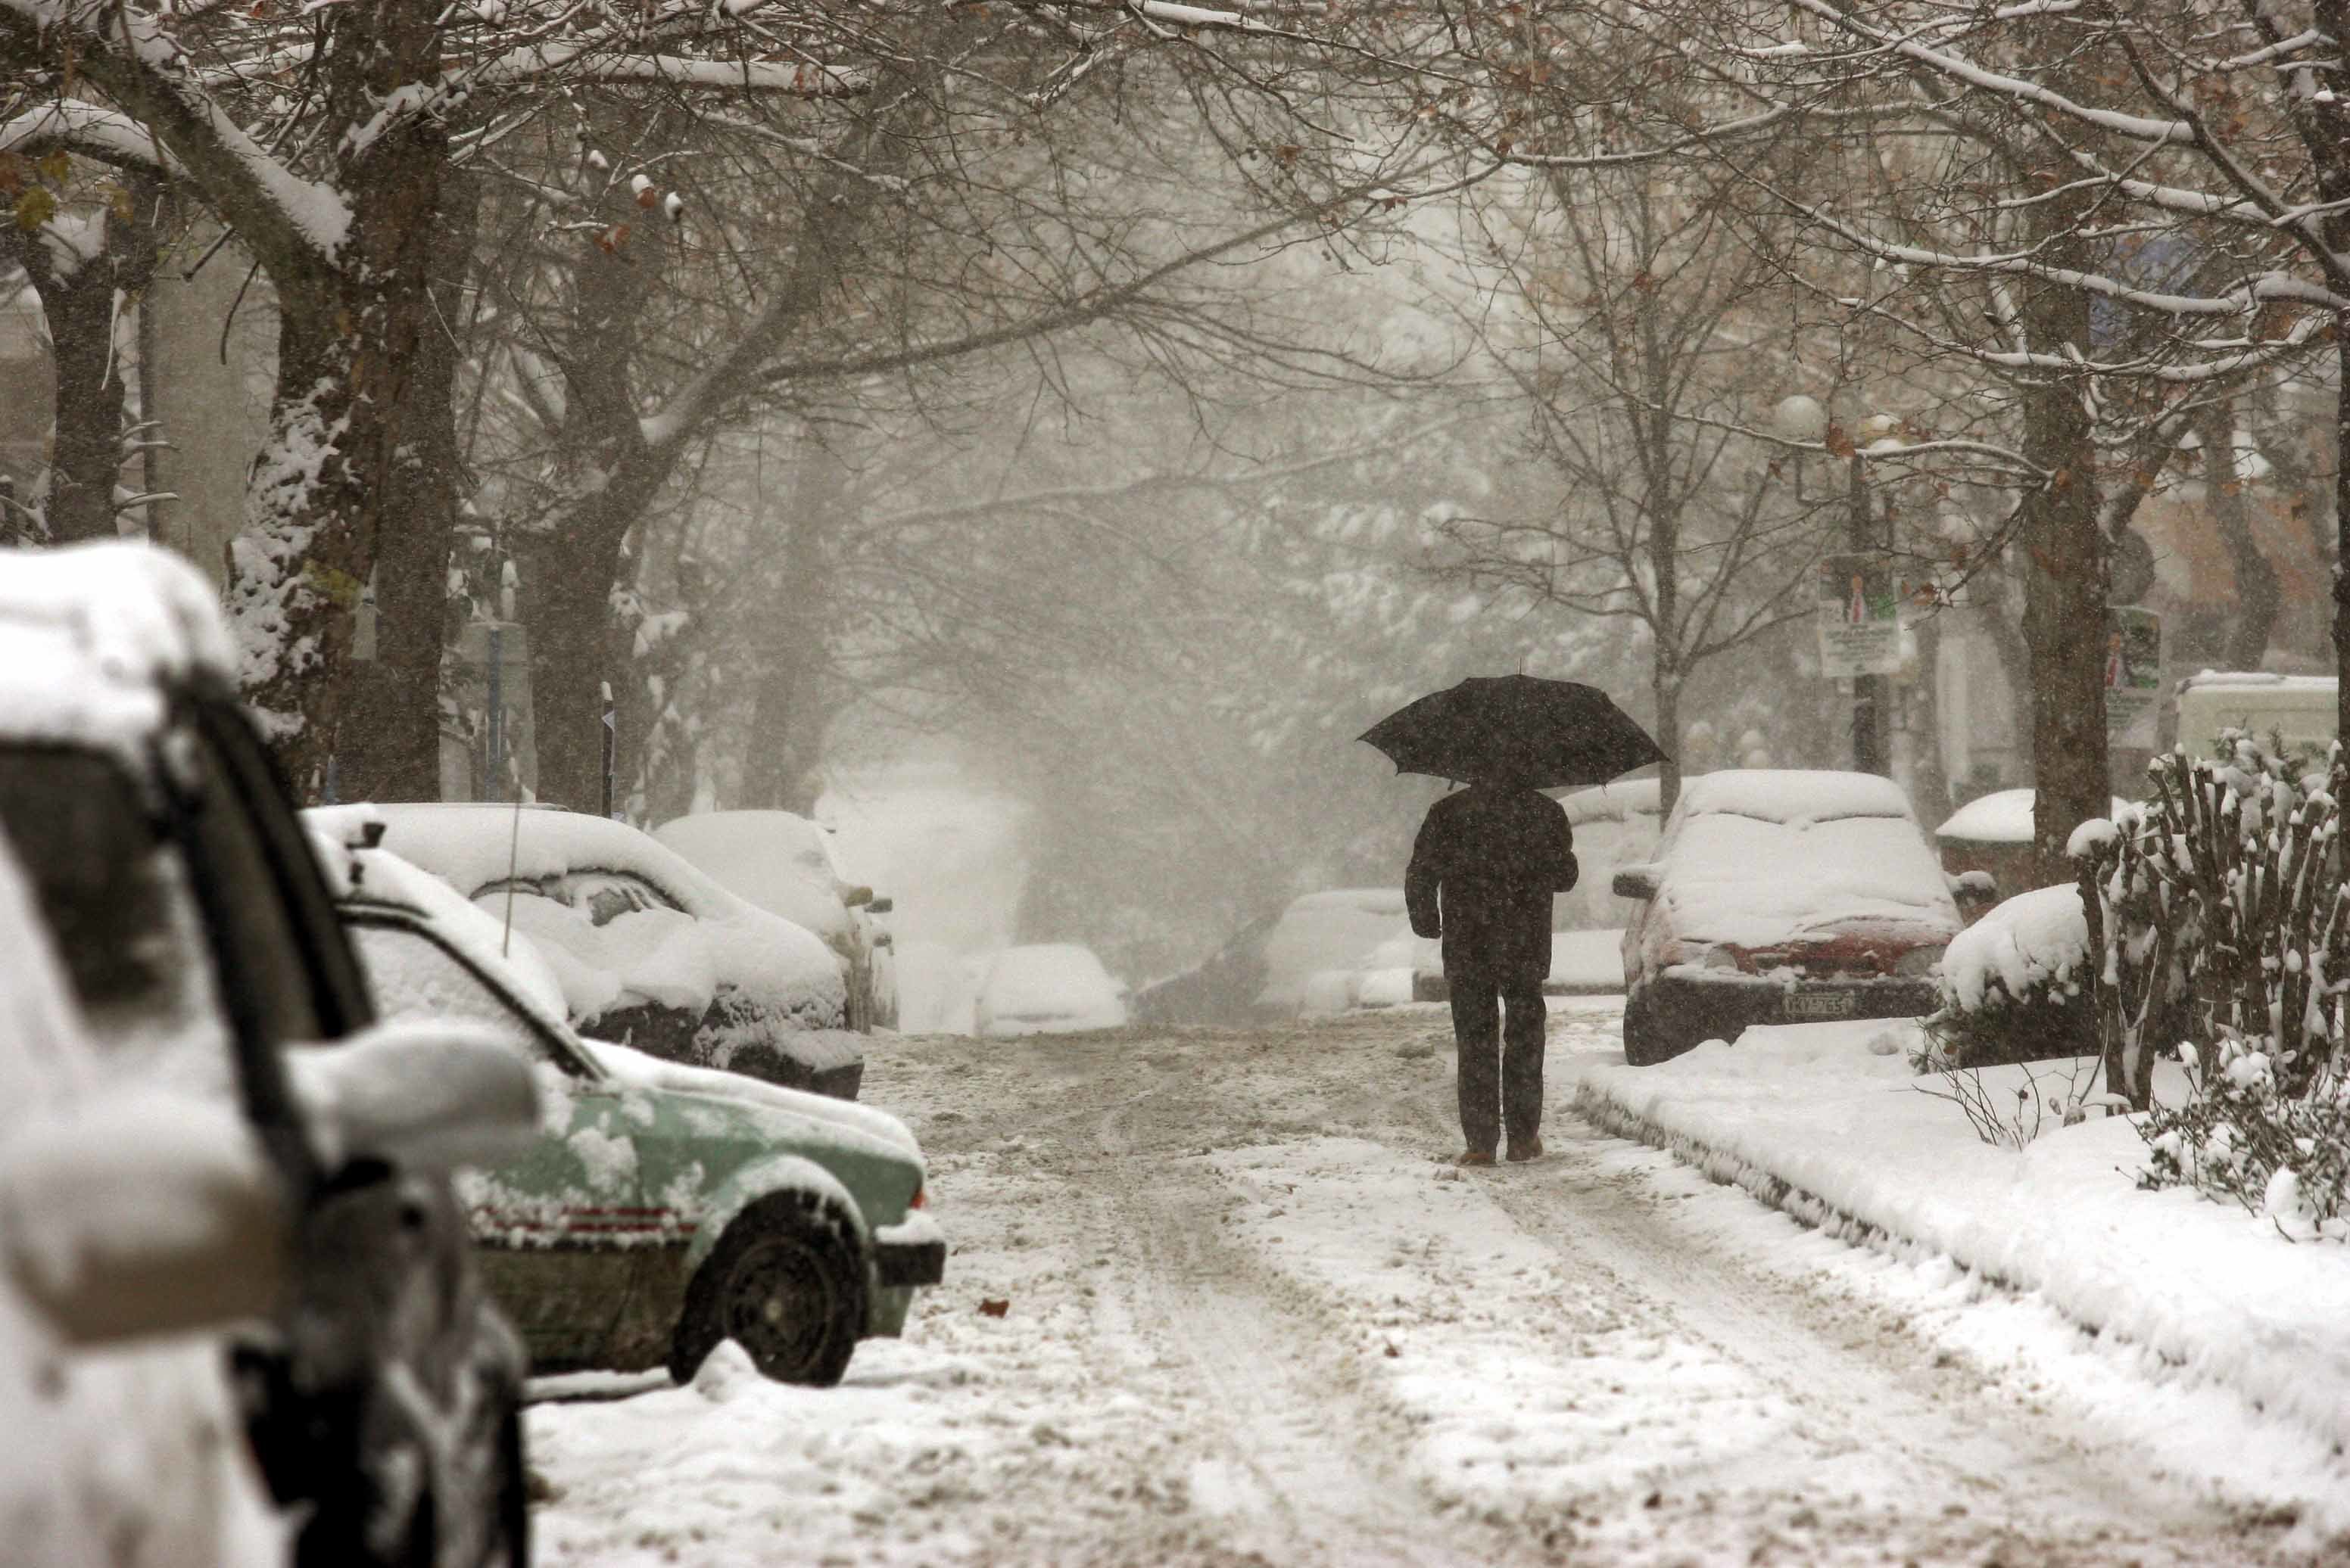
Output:
[[1567,807],[1523,782],[1471,784],[1419,824],[1403,901],[1412,932],[1445,944],[1469,1141],[1455,1164],[1492,1164],[1504,1127],[1511,1160],[1542,1155],[1551,894],[1574,876]]

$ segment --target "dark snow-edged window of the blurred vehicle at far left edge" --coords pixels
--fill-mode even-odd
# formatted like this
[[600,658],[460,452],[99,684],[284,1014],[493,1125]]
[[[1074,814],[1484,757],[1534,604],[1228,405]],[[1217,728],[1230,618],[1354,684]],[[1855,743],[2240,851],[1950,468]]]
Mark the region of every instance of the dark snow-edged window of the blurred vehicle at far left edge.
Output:
[[118,1056],[226,1075],[228,1033],[195,899],[122,765],[66,746],[5,749],[0,826],[33,878],[92,1038]]

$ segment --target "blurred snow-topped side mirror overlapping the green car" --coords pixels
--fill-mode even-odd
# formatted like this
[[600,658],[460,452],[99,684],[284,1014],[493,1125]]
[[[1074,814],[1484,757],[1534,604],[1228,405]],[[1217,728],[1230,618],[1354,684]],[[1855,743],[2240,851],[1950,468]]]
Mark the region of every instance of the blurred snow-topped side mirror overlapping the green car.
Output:
[[341,1045],[287,1052],[320,1157],[400,1167],[494,1164],[538,1129],[538,1084],[522,1052],[451,1019],[378,1023]]

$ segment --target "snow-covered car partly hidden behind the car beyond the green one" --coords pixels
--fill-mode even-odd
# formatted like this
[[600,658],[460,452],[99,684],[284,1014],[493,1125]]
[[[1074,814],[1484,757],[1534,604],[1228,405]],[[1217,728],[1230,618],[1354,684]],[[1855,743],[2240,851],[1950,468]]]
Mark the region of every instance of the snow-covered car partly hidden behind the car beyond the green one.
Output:
[[898,967],[872,887],[841,876],[832,829],[799,812],[693,812],[653,829],[719,887],[825,939],[848,965],[848,1028],[898,1028]]

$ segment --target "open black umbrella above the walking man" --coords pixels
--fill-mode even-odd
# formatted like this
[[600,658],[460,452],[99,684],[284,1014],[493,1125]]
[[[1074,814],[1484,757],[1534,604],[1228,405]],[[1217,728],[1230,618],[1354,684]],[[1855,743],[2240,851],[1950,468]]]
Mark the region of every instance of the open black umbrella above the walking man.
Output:
[[1396,772],[1535,789],[1605,784],[1664,761],[1607,692],[1542,676],[1469,676],[1403,704],[1361,739],[1391,756]]

